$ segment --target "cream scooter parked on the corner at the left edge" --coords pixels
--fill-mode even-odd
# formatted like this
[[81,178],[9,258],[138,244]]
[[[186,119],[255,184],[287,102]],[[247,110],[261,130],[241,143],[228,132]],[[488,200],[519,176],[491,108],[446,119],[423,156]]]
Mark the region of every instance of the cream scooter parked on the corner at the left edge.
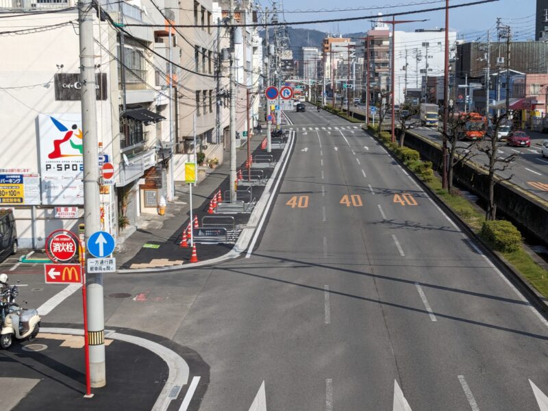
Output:
[[[2,330],[0,332],[0,347],[8,349],[13,338],[34,340],[40,332],[40,315],[34,309],[21,308],[15,302],[19,295],[17,286],[8,285],[8,275],[0,274],[0,312]],[[25,301],[26,303],[27,301]]]

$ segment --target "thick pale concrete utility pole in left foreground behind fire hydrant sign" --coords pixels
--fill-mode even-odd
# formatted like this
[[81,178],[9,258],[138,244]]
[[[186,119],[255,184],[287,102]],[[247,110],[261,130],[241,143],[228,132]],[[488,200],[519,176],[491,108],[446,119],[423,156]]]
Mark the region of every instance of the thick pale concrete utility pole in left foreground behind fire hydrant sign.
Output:
[[[95,52],[91,0],[78,3],[80,32],[80,78],[82,79],[82,129],[84,130],[84,238],[101,231],[99,215],[99,142],[97,140],[97,103],[95,99]],[[87,252],[86,258],[92,258]],[[88,293],[88,343],[90,382],[93,388],[106,384],[105,319],[103,314],[103,274],[86,273]]]

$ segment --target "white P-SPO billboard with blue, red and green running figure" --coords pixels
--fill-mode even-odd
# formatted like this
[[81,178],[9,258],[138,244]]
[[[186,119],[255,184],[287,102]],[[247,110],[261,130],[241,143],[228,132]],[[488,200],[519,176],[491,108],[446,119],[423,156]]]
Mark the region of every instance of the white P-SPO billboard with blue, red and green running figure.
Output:
[[84,204],[82,114],[39,114],[42,205]]

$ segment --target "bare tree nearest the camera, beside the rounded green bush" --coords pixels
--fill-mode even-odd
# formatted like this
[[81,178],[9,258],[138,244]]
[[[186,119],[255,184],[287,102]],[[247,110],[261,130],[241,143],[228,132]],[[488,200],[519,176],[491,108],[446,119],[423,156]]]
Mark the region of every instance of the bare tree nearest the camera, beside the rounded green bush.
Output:
[[512,162],[516,159],[516,154],[507,155],[505,158],[499,157],[499,128],[506,122],[507,114],[501,114],[500,116],[493,116],[493,132],[490,136],[487,136],[485,141],[477,146],[478,151],[481,151],[487,156],[488,162],[485,163],[485,166],[488,169],[488,204],[486,219],[495,220],[497,218],[497,205],[495,204],[495,186],[498,183],[506,182],[514,175],[510,177],[503,178],[500,175],[495,177],[495,173],[500,171],[506,171],[512,167]]

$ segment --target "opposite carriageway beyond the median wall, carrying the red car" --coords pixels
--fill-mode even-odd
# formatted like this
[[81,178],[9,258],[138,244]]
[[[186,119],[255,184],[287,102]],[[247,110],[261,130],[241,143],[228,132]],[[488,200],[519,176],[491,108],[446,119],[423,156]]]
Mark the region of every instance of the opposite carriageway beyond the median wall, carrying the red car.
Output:
[[[417,127],[412,132],[416,132],[421,136],[431,140],[441,142],[440,133],[433,127]],[[545,138],[546,139],[546,138]],[[531,147],[509,147],[506,142],[499,142],[498,155],[499,158],[508,158],[512,154],[517,157],[512,162],[510,169],[499,171],[497,174],[503,178],[511,178],[511,182],[521,188],[532,192],[534,195],[545,200],[548,199],[548,159],[543,158],[541,147],[542,138],[536,138],[531,141]],[[481,143],[479,143],[481,144]],[[480,153],[474,147],[470,147],[471,142],[460,141],[458,147],[461,149],[471,149],[475,153],[473,162],[486,166],[488,158],[484,153]],[[497,165],[500,167],[502,164]]]

